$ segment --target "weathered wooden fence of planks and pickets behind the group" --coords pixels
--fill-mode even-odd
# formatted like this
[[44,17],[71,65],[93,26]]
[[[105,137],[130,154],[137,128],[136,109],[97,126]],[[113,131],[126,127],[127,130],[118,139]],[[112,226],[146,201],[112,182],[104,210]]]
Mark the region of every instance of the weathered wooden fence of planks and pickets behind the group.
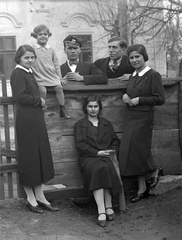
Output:
[[[49,134],[55,177],[44,190],[49,199],[83,196],[83,179],[77,166],[77,151],[74,144],[73,126],[84,116],[82,99],[96,93],[102,99],[103,117],[109,119],[122,137],[125,106],[122,94],[127,81],[109,80],[107,85],[84,86],[83,83],[70,82],[65,87],[66,108],[72,119],[59,117],[55,93],[47,96],[45,121]],[[157,165],[165,174],[182,174],[182,78],[163,79],[166,103],[156,107],[152,152]],[[17,177],[17,155],[14,132],[13,99],[7,95],[7,82],[2,78],[0,102],[1,126],[1,165],[0,199],[22,197],[23,193]],[[125,189],[129,188],[124,181]]]

